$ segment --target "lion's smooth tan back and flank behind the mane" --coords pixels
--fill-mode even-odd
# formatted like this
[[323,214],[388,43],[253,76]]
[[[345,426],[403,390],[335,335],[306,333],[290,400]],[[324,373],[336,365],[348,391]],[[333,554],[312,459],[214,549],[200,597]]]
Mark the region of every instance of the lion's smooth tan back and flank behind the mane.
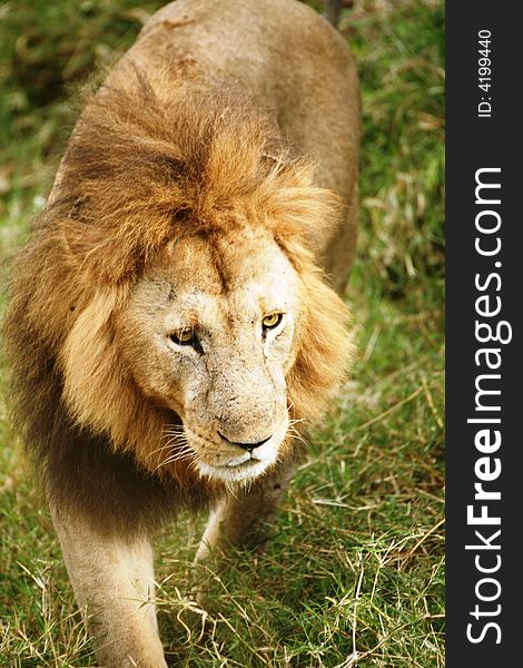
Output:
[[316,184],[348,210],[337,228],[309,237],[343,286],[356,239],[361,108],[341,35],[297,0],[176,0],[150,18],[126,58],[149,71],[196,68],[247,90],[275,117],[282,136],[316,163]]

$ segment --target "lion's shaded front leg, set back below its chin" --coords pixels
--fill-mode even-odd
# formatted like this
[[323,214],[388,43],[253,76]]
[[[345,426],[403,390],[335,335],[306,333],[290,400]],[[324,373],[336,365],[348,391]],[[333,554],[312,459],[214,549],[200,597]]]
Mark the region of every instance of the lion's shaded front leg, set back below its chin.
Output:
[[268,523],[276,515],[279,501],[296,469],[294,462],[279,464],[234,494],[223,499],[210,513],[196,561],[201,561],[214,548],[227,543],[259,546],[267,538]]

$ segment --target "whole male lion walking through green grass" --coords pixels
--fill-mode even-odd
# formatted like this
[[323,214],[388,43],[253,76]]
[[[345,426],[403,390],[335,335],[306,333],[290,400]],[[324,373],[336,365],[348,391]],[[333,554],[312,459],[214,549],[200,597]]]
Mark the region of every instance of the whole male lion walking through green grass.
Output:
[[344,40],[305,4],[178,0],[72,132],[7,338],[102,666],[166,666],[155,529],[210,507],[199,557],[256,540],[343,377],[358,117]]

